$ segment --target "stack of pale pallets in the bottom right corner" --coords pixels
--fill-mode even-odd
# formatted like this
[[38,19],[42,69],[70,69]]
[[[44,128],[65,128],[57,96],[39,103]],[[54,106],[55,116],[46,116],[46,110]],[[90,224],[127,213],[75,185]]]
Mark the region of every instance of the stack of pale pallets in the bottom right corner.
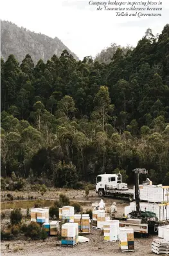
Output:
[[152,242],[152,251],[156,254],[169,254],[169,242],[165,239],[154,239]]

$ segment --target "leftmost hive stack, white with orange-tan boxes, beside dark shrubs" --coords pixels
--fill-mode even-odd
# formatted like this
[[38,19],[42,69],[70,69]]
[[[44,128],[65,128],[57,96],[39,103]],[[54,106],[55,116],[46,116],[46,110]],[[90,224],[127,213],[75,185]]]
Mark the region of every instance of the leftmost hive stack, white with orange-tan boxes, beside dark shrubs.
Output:
[[31,209],[31,221],[39,223],[49,222],[49,209]]

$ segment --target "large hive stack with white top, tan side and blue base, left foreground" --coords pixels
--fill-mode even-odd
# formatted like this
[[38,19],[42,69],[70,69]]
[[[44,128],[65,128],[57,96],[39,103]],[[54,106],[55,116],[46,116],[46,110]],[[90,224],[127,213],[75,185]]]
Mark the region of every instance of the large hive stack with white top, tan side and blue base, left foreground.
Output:
[[78,243],[78,223],[65,223],[62,225],[62,245],[75,246]]

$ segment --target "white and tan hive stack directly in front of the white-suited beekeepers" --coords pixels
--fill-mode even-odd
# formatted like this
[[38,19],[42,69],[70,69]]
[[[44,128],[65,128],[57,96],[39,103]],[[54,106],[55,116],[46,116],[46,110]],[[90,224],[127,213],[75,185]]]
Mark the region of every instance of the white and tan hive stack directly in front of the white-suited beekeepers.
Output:
[[93,211],[93,228],[102,229],[105,221],[109,221],[110,217],[104,210]]

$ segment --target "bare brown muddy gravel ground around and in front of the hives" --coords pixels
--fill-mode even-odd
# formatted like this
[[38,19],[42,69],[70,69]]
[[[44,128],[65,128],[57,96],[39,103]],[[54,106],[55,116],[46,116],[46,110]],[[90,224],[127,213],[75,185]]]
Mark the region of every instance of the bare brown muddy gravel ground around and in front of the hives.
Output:
[[[3,192],[6,193],[6,192]],[[12,193],[12,192],[10,192]],[[13,192],[20,193],[20,192]],[[22,195],[26,195],[28,192],[22,192]],[[29,192],[30,193],[30,192]],[[36,192],[31,192],[35,195]],[[76,190],[57,190],[49,191],[48,194],[45,194],[40,199],[57,199],[59,193],[66,193],[69,195],[71,201],[78,201],[82,203],[84,210],[91,208],[92,202],[99,202],[100,198],[94,191],[90,191],[89,199],[85,198],[84,191]],[[105,206],[109,209],[112,202],[116,201],[116,206],[118,207],[118,217],[122,217],[124,213],[124,207],[129,205],[127,200],[123,199],[111,199],[105,198]],[[10,212],[10,210],[8,210]],[[22,212],[26,212],[25,209],[22,209]],[[7,219],[3,220],[3,225],[10,221]],[[3,226],[2,225],[2,226]],[[101,256],[101,255],[150,255],[151,253],[151,242],[155,236],[149,236],[148,238],[135,238],[135,252],[132,253],[123,253],[119,248],[119,242],[104,242],[102,232],[99,230],[91,230],[90,235],[84,235],[90,239],[89,243],[78,244],[74,248],[60,247],[60,241],[57,241],[57,237],[49,237],[46,241],[26,241],[24,239],[14,240],[14,241],[2,241],[1,242],[1,255],[33,255],[33,256],[54,256],[54,255],[64,255],[64,256]],[[10,244],[10,250],[6,250],[6,244]]]

